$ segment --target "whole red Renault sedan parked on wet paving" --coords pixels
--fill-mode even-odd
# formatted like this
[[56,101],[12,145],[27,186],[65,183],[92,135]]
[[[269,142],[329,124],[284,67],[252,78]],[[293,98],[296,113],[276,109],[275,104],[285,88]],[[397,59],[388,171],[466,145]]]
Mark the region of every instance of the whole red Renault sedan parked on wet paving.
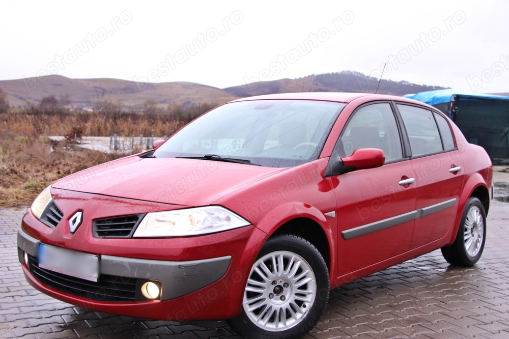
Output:
[[491,182],[484,149],[432,106],[250,97],[54,182],[23,217],[19,261],[71,304],[296,338],[352,280],[438,248],[475,264]]

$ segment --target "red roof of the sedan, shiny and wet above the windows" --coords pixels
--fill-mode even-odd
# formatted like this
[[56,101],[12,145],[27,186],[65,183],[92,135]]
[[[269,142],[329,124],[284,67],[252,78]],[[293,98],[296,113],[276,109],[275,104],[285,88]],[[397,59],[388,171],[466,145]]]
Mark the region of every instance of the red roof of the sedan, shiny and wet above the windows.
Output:
[[[246,97],[242,99],[233,100],[230,102],[238,102],[238,101],[250,101],[250,100],[274,100],[274,99],[282,99],[282,100],[322,100],[322,101],[335,101],[335,102],[344,102],[349,103],[357,98],[361,97],[370,97],[371,100],[395,100],[395,101],[403,101],[413,104],[418,104],[421,106],[428,106],[430,108],[435,109],[428,104],[423,102],[408,99],[395,95],[385,95],[385,94],[373,94],[373,93],[347,93],[347,92],[306,92],[306,93],[278,93],[278,94],[267,94],[267,95],[257,95],[253,97]],[[367,98],[366,98],[367,99]]]

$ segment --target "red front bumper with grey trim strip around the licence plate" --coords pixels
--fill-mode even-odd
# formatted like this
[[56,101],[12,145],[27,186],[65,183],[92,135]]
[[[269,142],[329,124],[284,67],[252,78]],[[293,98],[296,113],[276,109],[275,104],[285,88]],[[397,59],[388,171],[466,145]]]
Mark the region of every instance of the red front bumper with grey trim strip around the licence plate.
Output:
[[[107,217],[112,211],[127,215],[165,210],[167,205],[65,190],[54,190],[52,195],[64,212],[60,223],[52,229],[29,211],[18,234],[19,261],[34,288],[74,305],[132,317],[187,321],[229,319],[240,314],[249,270],[268,237],[253,225],[198,237],[95,238],[94,218]],[[69,218],[76,210],[84,211],[83,221],[70,234]],[[37,262],[39,243],[98,255],[100,278],[120,277],[120,283],[125,276],[159,280],[161,300],[107,301],[50,286],[31,270],[32,259]],[[24,252],[31,257],[28,266]],[[110,283],[117,284],[117,280]]]

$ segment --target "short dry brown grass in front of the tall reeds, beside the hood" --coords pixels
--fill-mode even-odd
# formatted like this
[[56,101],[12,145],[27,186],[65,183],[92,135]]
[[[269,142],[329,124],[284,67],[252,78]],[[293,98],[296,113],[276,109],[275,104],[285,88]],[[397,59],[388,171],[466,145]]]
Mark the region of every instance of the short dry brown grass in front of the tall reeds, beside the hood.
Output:
[[30,205],[53,181],[125,156],[70,151],[64,143],[0,131],[0,207]]

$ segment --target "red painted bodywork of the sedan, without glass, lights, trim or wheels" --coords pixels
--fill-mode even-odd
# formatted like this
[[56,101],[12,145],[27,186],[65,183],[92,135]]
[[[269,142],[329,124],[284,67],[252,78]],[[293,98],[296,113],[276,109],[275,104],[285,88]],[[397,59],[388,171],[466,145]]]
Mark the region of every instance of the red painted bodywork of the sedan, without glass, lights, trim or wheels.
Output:
[[[128,316],[162,320],[228,319],[240,314],[247,276],[264,242],[290,220],[306,218],[327,239],[330,288],[453,243],[463,209],[472,192],[489,191],[491,162],[470,145],[451,123],[458,150],[385,164],[324,178],[336,140],[354,110],[365,103],[420,102],[386,95],[290,93],[240,100],[301,99],[348,103],[335,122],[318,160],[295,167],[271,168],[194,159],[142,159],[130,156],[73,174],[55,182],[51,193],[66,210],[62,222],[86,211],[74,235],[68,228],[50,229],[31,212],[22,230],[44,243],[98,255],[186,261],[231,256],[225,275],[201,290],[167,301],[97,302],[41,284],[23,264],[26,279],[57,299]],[[239,101],[239,100],[237,100]],[[462,171],[451,174],[451,166]],[[416,184],[399,186],[406,178]],[[362,237],[345,240],[342,231],[455,197],[451,208]],[[97,239],[92,219],[220,205],[251,225],[216,234],[160,239]],[[325,213],[335,211],[335,217]],[[446,221],[444,223],[444,220]]]

